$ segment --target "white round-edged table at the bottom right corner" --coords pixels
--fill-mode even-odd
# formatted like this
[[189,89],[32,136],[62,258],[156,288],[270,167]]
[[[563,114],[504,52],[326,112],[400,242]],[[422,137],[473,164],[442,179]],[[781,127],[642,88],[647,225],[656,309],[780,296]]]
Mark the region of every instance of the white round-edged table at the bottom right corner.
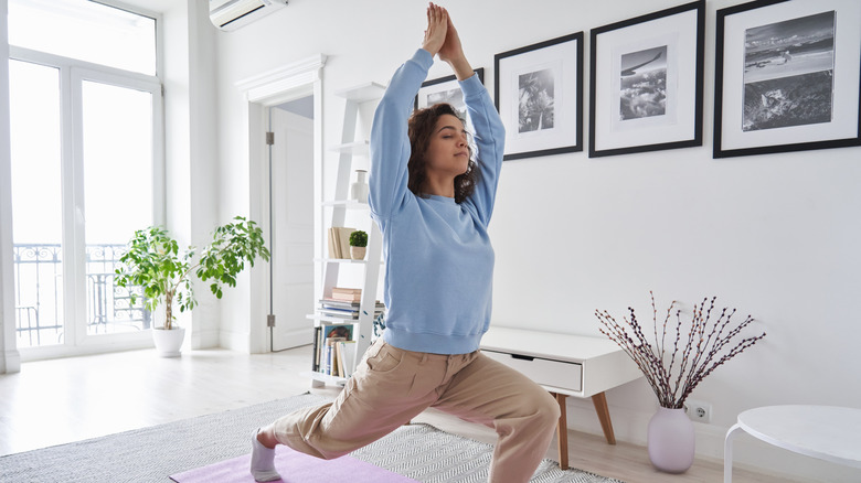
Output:
[[740,431],[799,454],[861,468],[861,409],[767,406],[742,412],[726,432],[724,483],[733,480],[733,439]]

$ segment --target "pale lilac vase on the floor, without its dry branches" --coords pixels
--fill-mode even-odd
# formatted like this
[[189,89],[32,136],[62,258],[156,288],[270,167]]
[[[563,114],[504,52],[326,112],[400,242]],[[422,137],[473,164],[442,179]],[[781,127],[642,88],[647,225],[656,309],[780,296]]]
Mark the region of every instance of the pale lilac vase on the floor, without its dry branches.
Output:
[[684,473],[693,464],[694,430],[684,409],[658,408],[649,420],[649,460],[660,471]]

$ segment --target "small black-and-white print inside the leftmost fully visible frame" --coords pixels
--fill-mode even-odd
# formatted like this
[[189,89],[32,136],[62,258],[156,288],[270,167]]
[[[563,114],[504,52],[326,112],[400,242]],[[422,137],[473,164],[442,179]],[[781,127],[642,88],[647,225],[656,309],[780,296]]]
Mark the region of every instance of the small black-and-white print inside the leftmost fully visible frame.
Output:
[[554,84],[550,68],[518,75],[518,132],[553,129]]

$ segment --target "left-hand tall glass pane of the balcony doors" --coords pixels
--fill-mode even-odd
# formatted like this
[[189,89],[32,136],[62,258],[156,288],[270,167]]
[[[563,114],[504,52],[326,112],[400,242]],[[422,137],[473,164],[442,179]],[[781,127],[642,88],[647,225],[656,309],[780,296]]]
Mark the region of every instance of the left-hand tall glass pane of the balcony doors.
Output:
[[9,61],[19,347],[63,343],[60,73]]

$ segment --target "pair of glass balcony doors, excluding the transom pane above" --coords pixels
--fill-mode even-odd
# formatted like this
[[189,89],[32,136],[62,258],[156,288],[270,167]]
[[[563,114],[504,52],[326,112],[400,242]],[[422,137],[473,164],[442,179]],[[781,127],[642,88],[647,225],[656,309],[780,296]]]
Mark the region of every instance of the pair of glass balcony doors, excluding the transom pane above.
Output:
[[160,222],[160,86],[10,60],[10,93],[22,355],[149,341],[114,270],[135,229]]

